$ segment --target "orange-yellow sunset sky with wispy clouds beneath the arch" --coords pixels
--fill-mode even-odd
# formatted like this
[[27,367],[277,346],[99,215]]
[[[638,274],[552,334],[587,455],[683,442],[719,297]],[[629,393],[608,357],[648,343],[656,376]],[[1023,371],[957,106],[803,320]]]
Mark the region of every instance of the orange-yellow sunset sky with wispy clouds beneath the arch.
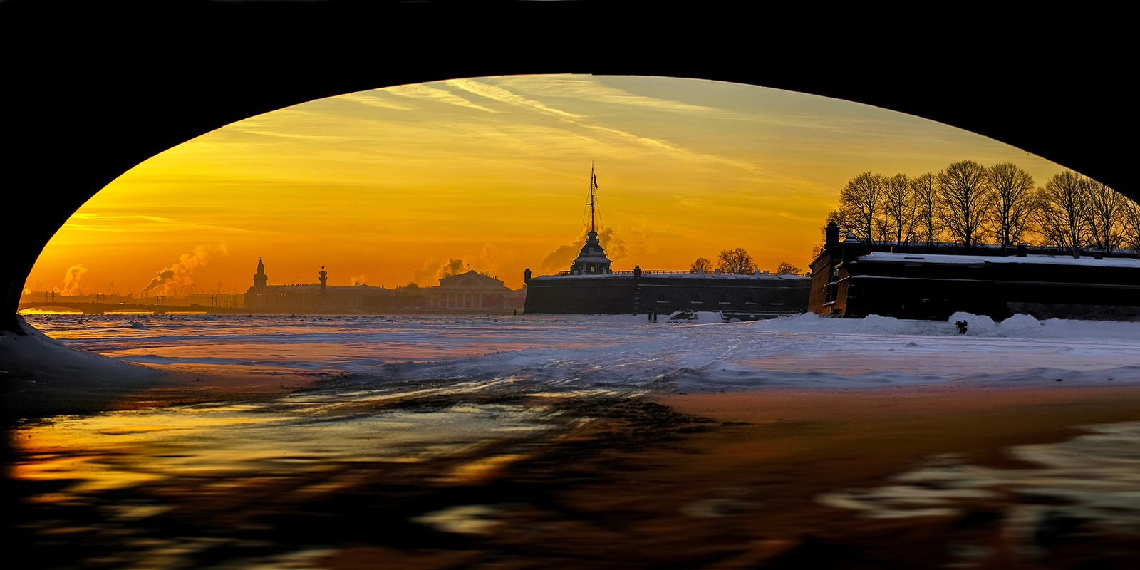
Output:
[[[161,96],[156,93],[155,96]],[[744,247],[807,269],[863,171],[1062,166],[956,128],[703,80],[459,79],[320,99],[226,125],[124,173],[40,255],[25,291],[135,296],[272,285],[437,285],[451,260],[512,288],[569,268],[589,171],[613,268],[685,269]],[[177,266],[177,267],[176,267]]]

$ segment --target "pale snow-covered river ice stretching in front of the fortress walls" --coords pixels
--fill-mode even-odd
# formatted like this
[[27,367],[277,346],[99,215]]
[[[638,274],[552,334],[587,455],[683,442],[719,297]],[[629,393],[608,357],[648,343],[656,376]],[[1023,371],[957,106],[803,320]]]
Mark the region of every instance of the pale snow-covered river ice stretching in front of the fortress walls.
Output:
[[[355,373],[360,385],[483,382],[545,388],[738,390],[978,380],[1140,381],[1140,323],[1019,315],[1002,323],[814,314],[677,324],[645,315],[520,317],[28,316],[72,347],[148,365]],[[956,334],[955,320],[969,321]],[[132,323],[146,328],[130,328]],[[545,389],[544,388],[544,389]]]

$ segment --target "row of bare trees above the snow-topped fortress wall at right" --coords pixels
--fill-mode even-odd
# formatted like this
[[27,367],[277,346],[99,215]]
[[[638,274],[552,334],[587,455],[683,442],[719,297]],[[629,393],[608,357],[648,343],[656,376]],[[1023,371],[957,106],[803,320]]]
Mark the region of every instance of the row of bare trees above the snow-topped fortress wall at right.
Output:
[[1140,251],[1140,205],[1101,182],[1065,171],[1044,187],[1013,163],[955,162],[918,177],[863,172],[839,193],[828,215],[868,243],[926,243],[950,238],[1019,242],[1112,253]]

